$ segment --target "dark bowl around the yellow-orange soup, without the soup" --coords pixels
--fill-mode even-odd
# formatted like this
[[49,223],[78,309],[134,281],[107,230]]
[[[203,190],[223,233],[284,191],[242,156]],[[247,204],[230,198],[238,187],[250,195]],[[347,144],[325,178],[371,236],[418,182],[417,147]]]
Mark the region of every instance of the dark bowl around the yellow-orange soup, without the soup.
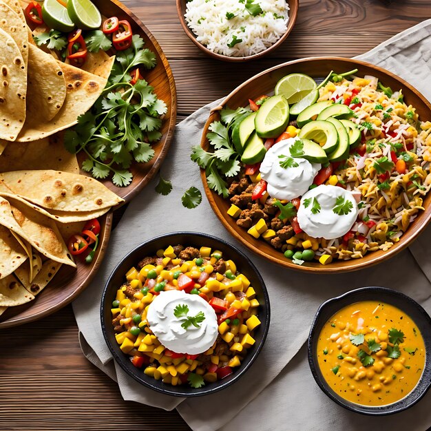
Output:
[[[413,319],[414,323],[421,331],[423,341],[425,341],[425,367],[417,386],[403,399],[386,406],[362,406],[340,397],[328,386],[328,383],[326,383],[326,380],[322,376],[322,372],[320,372],[319,364],[317,363],[317,340],[319,339],[319,333],[324,324],[341,308],[360,301],[379,301],[396,306]],[[341,407],[347,408],[353,412],[370,414],[373,416],[383,416],[385,414],[401,412],[417,403],[431,386],[431,317],[412,298],[389,288],[375,286],[362,287],[333,299],[328,299],[328,301],[324,302],[324,304],[319,307],[313,325],[311,326],[310,335],[308,336],[308,363],[310,364],[311,372],[319,388]]]

